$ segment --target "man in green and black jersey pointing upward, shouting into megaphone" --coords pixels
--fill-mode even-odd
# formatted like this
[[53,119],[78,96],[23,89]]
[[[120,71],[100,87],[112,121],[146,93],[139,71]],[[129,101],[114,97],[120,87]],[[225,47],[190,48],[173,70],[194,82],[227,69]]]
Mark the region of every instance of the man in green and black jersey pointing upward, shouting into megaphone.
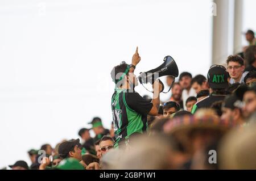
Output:
[[159,93],[163,89],[158,79],[152,85],[154,90],[152,102],[142,98],[134,91],[134,87],[138,85],[134,69],[139,61],[141,61],[141,57],[137,47],[130,65],[122,62],[111,71],[111,77],[115,83],[115,91],[112,96],[115,148],[127,145],[133,134],[146,131],[147,115],[158,115]]

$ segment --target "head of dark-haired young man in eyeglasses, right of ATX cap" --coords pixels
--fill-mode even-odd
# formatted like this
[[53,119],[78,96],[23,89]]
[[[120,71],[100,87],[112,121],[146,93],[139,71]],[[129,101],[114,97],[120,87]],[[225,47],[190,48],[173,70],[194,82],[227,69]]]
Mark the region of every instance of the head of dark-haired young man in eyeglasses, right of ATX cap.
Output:
[[230,55],[228,57],[228,60],[226,60],[226,63],[228,64],[228,73],[230,75],[230,80],[229,83],[233,84],[233,83],[244,83],[243,82],[243,78],[245,78],[246,74],[249,71],[245,71],[245,65],[243,62],[243,59],[240,56],[237,55]]

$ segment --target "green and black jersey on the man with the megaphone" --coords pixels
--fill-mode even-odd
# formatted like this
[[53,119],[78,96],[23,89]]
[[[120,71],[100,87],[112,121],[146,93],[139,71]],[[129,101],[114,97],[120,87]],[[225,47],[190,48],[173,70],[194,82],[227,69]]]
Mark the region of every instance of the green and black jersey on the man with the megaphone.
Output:
[[115,145],[126,141],[133,133],[143,133],[147,129],[147,114],[153,104],[142,98],[134,90],[117,89],[112,96]]

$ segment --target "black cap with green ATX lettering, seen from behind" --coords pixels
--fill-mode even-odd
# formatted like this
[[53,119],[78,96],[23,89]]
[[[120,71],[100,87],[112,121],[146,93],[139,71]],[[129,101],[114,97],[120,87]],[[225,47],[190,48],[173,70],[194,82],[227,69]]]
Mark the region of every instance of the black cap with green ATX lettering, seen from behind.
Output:
[[210,88],[226,89],[229,86],[228,72],[222,65],[212,65],[207,74],[207,79]]

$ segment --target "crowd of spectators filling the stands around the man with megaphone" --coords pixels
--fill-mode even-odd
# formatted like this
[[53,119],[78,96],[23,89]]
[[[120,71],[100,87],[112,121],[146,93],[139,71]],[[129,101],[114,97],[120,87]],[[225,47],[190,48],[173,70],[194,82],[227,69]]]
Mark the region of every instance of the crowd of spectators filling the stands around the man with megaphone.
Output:
[[[250,33],[250,32],[249,32]],[[255,39],[253,39],[255,41]],[[80,139],[64,140],[54,149],[30,150],[12,169],[256,169],[256,46],[213,65],[207,77],[183,72],[162,103],[149,116],[147,132],[133,134],[129,144],[114,149],[114,126],[99,117]],[[170,84],[168,81],[167,84]],[[145,96],[146,99],[150,99]],[[44,157],[42,156],[44,153]]]

